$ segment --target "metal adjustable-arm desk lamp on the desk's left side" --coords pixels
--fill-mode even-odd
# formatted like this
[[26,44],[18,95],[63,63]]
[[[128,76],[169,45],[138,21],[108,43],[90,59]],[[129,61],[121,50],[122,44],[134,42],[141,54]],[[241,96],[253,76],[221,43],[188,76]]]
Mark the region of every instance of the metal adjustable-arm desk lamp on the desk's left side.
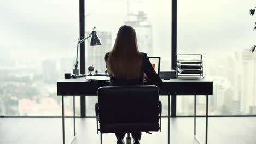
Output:
[[[79,46],[79,44],[83,43],[86,39],[88,39],[90,37],[91,37],[90,46],[101,45],[101,40],[97,36],[96,27],[94,27],[94,29],[92,30],[92,32],[89,34],[88,37],[86,37],[84,39],[78,39],[78,43],[77,43],[77,57],[78,57],[78,46]],[[77,69],[78,63],[79,62],[76,59],[75,69],[73,69],[73,74],[75,74],[75,75],[79,75],[79,69]]]

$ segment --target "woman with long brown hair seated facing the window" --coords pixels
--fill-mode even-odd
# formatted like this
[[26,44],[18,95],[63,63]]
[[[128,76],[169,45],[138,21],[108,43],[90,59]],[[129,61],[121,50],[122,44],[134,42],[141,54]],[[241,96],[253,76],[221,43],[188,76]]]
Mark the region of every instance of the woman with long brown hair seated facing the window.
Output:
[[[139,52],[135,30],[130,26],[119,28],[112,51],[106,53],[105,61],[112,86],[144,85],[144,74],[153,85],[161,86],[162,80],[150,63],[146,53]],[[125,133],[115,133],[117,143],[124,143]],[[132,133],[135,144],[141,139],[141,132]]]

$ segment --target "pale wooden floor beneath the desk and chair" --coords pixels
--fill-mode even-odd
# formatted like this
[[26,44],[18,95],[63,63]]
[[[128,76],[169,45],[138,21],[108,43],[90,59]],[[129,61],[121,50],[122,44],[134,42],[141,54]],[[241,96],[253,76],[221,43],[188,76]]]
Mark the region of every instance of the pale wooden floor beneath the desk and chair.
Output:
[[[62,143],[61,118],[0,118],[0,143]],[[66,143],[73,134],[73,119],[66,118]],[[77,118],[77,136],[73,143],[100,143],[95,118]],[[170,143],[197,143],[193,118],[171,118]],[[197,134],[205,138],[205,118],[197,118]],[[256,117],[210,117],[208,143],[255,144]],[[103,134],[103,143],[115,143],[114,134]],[[167,143],[167,118],[162,132],[142,133],[141,143]]]

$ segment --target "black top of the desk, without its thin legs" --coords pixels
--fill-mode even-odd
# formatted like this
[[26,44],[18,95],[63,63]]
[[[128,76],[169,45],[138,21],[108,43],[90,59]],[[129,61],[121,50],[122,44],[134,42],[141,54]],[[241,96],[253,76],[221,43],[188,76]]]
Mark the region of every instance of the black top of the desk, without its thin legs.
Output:
[[[213,82],[203,78],[179,78],[163,82],[159,88],[160,95],[212,95],[213,91]],[[57,82],[57,95],[97,95],[97,89],[102,86],[109,86],[109,82],[90,82],[84,77],[63,79]]]

